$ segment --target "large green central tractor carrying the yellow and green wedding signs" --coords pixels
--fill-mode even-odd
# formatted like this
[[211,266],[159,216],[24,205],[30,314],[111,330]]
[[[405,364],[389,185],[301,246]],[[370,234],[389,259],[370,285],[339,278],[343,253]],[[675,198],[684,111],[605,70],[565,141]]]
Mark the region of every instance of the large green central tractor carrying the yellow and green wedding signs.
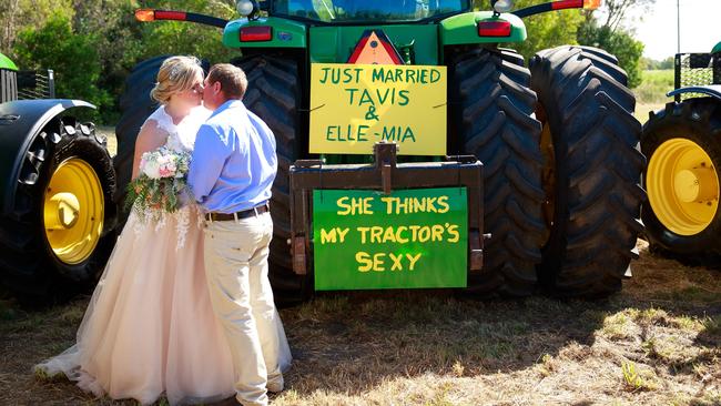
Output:
[[[397,287],[598,297],[621,288],[643,230],[627,74],[596,48],[544,50],[527,65],[500,47],[527,38],[524,17],[598,3],[241,0],[233,21],[135,16],[215,26],[238,50],[244,103],[277,141],[277,300]],[[119,190],[164,58],[128,79]]]

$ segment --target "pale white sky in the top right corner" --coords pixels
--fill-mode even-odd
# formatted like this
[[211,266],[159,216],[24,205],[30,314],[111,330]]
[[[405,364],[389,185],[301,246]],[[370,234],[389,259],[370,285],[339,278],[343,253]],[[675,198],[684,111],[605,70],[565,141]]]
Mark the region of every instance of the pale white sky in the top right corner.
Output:
[[[646,45],[643,55],[662,60],[677,52],[677,0],[656,0],[646,13],[629,16],[636,38]],[[679,0],[681,52],[711,52],[721,42],[721,0]]]

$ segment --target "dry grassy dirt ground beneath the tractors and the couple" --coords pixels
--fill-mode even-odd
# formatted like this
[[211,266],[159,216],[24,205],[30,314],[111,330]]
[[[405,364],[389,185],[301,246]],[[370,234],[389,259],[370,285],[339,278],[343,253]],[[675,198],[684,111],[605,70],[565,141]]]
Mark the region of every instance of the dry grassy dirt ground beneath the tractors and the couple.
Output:
[[[638,247],[633,278],[605,301],[415,291],[284,308],[295,361],[273,403],[721,405],[721,271]],[[0,298],[1,405],[134,404],[32,373],[73,343],[87,303],[31,312]]]

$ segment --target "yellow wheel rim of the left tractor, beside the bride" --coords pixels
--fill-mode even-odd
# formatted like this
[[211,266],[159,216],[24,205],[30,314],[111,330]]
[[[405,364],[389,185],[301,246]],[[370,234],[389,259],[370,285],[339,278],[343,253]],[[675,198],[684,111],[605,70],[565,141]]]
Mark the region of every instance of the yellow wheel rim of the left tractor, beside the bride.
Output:
[[90,257],[103,230],[104,204],[100,179],[88,162],[71,158],[55,169],[45,190],[43,224],[60,261],[73,265]]

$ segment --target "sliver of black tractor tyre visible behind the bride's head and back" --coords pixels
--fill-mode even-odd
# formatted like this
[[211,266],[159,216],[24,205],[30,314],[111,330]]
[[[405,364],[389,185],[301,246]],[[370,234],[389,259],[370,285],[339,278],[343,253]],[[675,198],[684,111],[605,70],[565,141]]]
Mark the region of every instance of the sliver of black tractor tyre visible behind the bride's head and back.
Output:
[[121,223],[125,223],[129,212],[125,207],[125,189],[133,173],[133,155],[135,140],[141,125],[158,109],[158,102],[150,97],[155,85],[158,71],[170,55],[151,58],[138,63],[125,80],[125,90],[120,97],[120,121],[115,125],[118,152],[113,158],[113,166],[118,174],[118,191],[113,196]]

